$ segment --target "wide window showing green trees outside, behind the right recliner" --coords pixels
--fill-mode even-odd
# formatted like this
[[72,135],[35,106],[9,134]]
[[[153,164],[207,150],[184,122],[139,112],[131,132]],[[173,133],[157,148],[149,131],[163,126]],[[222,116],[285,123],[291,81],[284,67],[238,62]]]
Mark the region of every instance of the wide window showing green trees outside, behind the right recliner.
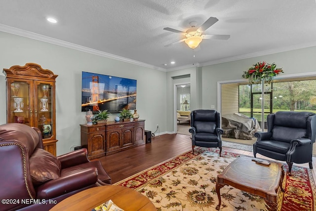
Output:
[[[261,121],[261,84],[239,85],[239,113]],[[316,113],[316,80],[276,81],[265,84],[264,113],[309,111]]]

